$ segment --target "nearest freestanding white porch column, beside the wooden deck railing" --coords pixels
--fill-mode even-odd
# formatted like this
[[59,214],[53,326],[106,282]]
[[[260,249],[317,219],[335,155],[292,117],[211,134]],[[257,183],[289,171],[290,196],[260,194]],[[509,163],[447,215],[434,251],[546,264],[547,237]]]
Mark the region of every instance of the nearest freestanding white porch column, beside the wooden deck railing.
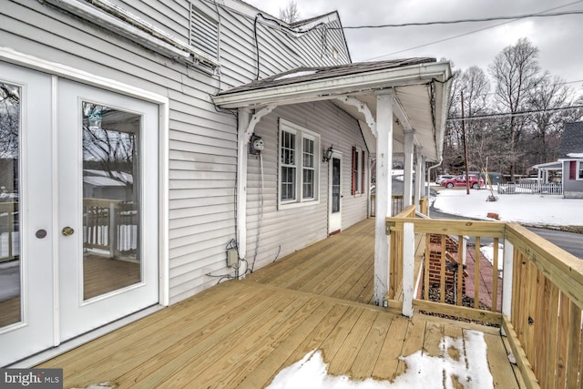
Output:
[[374,222],[374,302],[381,305],[389,292],[389,247],[386,218],[391,216],[393,160],[392,94],[376,97],[376,218]]

